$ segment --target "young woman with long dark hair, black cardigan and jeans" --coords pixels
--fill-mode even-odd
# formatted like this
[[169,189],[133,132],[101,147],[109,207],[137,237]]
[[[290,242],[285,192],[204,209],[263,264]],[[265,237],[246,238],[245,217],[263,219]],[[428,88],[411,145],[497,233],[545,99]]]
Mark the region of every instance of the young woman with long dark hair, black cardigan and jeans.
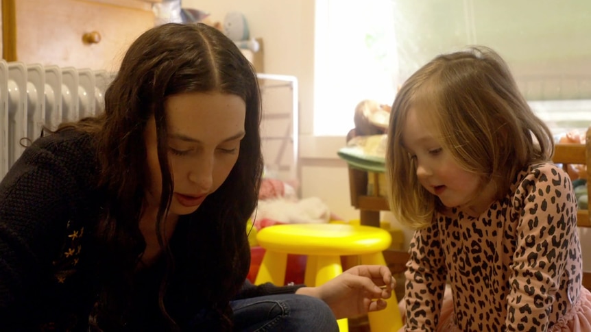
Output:
[[261,101],[224,34],[146,31],[105,98],[0,183],[0,331],[336,331],[385,307],[385,266],[316,288],[245,283]]

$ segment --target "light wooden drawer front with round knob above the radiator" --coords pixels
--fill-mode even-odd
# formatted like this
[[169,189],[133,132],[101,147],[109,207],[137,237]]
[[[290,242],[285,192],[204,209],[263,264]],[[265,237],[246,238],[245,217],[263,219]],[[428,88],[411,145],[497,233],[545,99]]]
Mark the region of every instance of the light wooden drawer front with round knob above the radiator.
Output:
[[14,7],[16,60],[25,63],[117,71],[130,43],[154,26],[152,10],[104,1],[18,0]]

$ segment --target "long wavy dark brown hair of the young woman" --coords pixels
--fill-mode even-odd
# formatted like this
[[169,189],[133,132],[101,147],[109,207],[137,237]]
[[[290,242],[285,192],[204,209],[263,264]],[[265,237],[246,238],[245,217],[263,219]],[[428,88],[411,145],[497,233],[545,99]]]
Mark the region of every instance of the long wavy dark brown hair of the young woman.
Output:
[[[195,314],[191,310],[200,308],[217,313],[221,328],[232,326],[229,301],[250,266],[246,222],[256,207],[263,168],[258,83],[250,62],[220,31],[203,24],[170,23],[149,29],[132,43],[105,93],[104,114],[62,126],[95,135],[99,187],[108,192],[98,227],[104,249],[99,264],[104,270],[98,307],[101,327],[123,324],[134,269],[145,248],[138,221],[147,178],[143,140],[147,120],[152,115],[156,120],[162,173],[156,225],[160,230],[173,193],[164,104],[167,97],[184,92],[241,97],[246,104],[245,137],[226,181],[195,213],[182,216],[182,226],[180,222],[177,227],[182,227],[182,233],[175,233],[175,243],[167,246],[158,233],[167,261],[158,305],[171,327],[178,327]],[[169,312],[167,308],[173,306],[182,309]]]

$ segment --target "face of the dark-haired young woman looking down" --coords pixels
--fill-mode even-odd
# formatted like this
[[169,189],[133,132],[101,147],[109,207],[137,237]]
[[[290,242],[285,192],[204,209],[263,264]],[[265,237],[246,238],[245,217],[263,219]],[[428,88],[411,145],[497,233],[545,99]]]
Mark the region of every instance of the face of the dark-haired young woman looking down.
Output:
[[[174,183],[170,215],[191,214],[224,183],[236,164],[244,138],[246,105],[234,94],[191,92],[165,102],[168,159]],[[154,116],[144,133],[147,204],[158,207],[162,178]]]

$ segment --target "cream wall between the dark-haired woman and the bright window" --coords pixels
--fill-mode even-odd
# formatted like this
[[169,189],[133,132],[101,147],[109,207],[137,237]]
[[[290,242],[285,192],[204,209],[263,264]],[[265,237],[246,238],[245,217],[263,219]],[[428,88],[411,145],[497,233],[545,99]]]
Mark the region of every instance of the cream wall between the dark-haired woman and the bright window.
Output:
[[301,194],[317,196],[341,216],[359,218],[350,206],[348,170],[337,157],[343,137],[311,137],[314,69],[314,0],[183,0],[182,7],[210,12],[212,21],[224,21],[228,11],[242,12],[251,37],[263,38],[266,73],[293,75],[300,84]]

